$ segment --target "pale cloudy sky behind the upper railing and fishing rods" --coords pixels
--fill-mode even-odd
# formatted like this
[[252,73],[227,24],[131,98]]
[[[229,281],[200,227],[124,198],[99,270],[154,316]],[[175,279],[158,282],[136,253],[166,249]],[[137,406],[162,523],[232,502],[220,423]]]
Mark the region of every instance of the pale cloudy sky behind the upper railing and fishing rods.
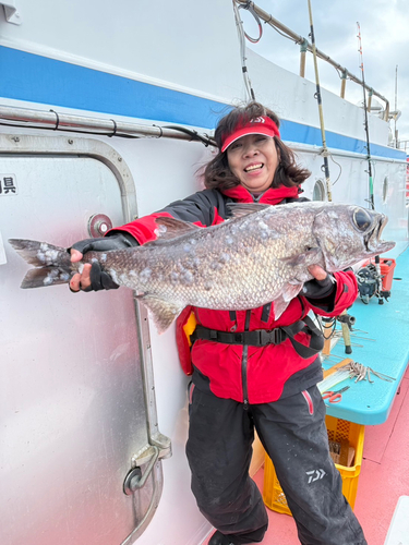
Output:
[[[255,0],[255,4],[311,41],[308,0]],[[397,109],[401,116],[397,130],[399,140],[409,141],[409,0],[311,0],[311,5],[316,47],[361,80],[357,38],[359,22],[365,83],[389,100],[390,110],[395,110],[398,65]],[[245,10],[240,10],[240,14],[245,32],[257,36],[253,17]],[[248,47],[272,62],[299,73],[299,46],[264,23],[263,31],[261,41],[251,45],[246,40]],[[339,94],[341,81],[337,71],[318,61],[318,72],[321,86]],[[306,56],[305,76],[315,81],[311,53]],[[362,102],[362,88],[347,81],[346,99],[353,104]],[[394,121],[390,123],[395,130]]]

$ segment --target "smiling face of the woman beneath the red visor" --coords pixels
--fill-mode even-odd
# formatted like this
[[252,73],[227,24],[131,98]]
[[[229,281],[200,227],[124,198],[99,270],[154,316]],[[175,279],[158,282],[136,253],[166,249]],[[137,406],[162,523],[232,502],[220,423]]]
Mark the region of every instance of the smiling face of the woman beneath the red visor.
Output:
[[274,138],[248,134],[227,148],[227,161],[241,185],[261,193],[272,185],[279,158]]

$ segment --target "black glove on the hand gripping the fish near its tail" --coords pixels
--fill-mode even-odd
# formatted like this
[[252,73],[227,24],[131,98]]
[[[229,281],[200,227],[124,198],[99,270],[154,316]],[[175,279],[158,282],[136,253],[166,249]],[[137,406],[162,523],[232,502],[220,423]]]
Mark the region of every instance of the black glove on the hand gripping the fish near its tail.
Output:
[[[71,247],[82,254],[86,252],[109,252],[139,246],[139,242],[128,233],[113,233],[98,239],[85,239],[75,242]],[[69,249],[70,251],[71,249]],[[89,272],[91,286],[82,291],[117,290],[119,288],[112,278],[101,269],[98,262],[93,262]]]

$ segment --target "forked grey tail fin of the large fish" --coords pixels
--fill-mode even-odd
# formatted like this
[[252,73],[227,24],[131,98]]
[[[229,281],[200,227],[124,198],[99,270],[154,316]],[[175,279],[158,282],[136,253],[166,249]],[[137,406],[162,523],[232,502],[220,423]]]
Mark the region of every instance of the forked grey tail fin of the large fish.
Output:
[[70,281],[73,267],[64,247],[22,239],[9,239],[9,242],[24,261],[35,267],[25,275],[21,288],[43,288]]

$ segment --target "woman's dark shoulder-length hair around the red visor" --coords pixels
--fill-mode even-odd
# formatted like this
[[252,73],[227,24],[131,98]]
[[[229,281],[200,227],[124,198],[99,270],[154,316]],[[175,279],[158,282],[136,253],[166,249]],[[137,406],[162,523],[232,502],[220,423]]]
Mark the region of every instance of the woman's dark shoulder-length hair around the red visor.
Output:
[[[224,136],[231,134],[238,125],[245,124],[252,119],[260,117],[268,117],[276,123],[277,128],[280,125],[280,121],[276,113],[260,102],[253,101],[232,109],[218,122],[215,131],[215,141],[219,150],[221,149]],[[293,152],[277,136],[274,136],[274,142],[279,154],[279,164],[270,187],[279,187],[280,185],[286,185],[287,187],[301,185],[301,183],[309,178],[311,172],[297,165]],[[236,187],[236,185],[240,185],[240,181],[229,169],[226,152],[219,152],[217,156],[206,165],[204,169],[204,183],[209,190],[228,190],[230,187]]]

